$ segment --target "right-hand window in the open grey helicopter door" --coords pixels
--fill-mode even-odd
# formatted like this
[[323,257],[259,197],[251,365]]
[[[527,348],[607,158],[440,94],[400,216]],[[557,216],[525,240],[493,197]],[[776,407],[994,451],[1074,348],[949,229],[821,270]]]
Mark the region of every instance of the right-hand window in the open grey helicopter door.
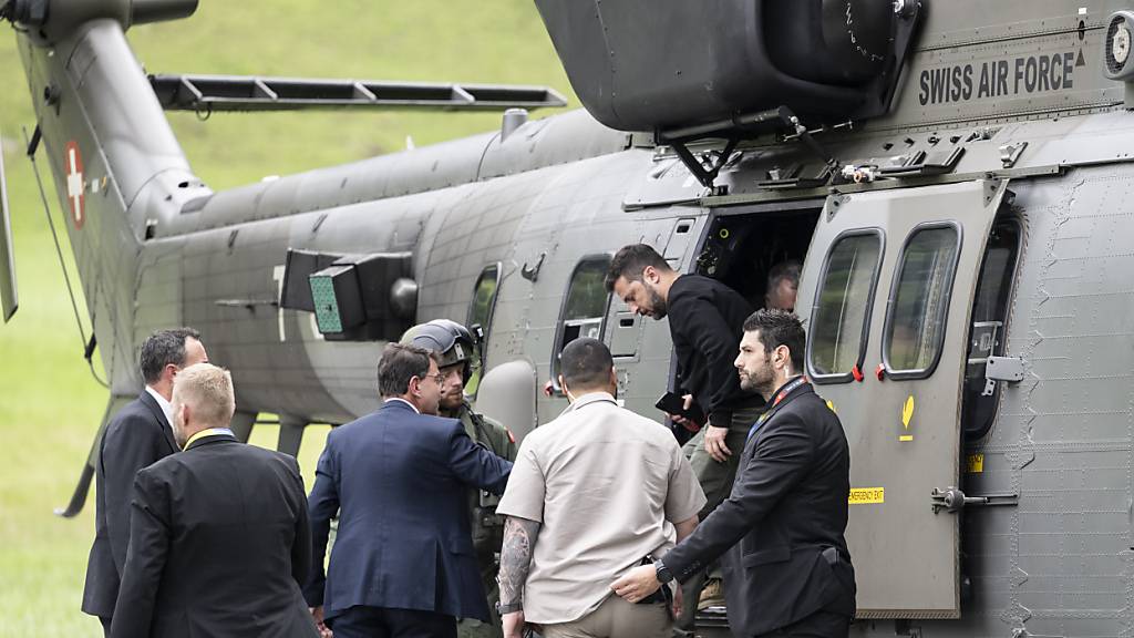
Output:
[[959,254],[960,228],[953,224],[921,225],[906,240],[887,304],[882,361],[890,377],[933,373]]

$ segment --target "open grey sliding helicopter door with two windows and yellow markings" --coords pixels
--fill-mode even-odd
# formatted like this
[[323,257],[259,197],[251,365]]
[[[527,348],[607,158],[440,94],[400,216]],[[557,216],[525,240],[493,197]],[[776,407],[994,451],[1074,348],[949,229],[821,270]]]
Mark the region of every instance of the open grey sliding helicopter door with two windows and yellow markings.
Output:
[[997,181],[828,198],[799,282],[806,366],[850,445],[858,618],[959,618],[960,393]]

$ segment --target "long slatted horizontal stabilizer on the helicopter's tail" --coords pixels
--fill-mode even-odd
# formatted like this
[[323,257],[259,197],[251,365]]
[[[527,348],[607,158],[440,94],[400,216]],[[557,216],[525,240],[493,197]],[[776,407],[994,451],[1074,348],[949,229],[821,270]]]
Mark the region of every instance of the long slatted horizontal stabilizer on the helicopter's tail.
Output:
[[567,100],[553,89],[508,84],[159,74],[150,76],[150,85],[166,110],[203,114],[341,108],[463,111],[567,106]]

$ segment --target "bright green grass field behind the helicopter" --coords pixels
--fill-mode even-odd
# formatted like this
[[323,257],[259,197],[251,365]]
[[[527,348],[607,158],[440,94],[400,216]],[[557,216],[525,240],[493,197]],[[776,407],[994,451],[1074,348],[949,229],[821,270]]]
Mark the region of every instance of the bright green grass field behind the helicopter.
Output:
[[[93,489],[76,519],[59,519],[52,509],[70,496],[107,392],[82,359],[51,234],[20,152],[20,127],[31,131],[35,121],[15,36],[3,27],[0,32],[0,146],[20,292],[19,312],[0,326],[0,610],[6,616],[0,637],[101,636],[98,622],[78,611],[94,532]],[[526,0],[203,0],[194,18],[139,27],[130,39],[150,72],[549,84],[570,94],[534,3]],[[407,136],[424,145],[499,125],[498,115],[398,112],[171,119],[196,173],[217,190],[396,151]],[[51,205],[58,224],[53,195]],[[88,326],[82,307],[81,312]],[[276,435],[261,427],[253,440],[271,444]],[[312,429],[304,442],[299,462],[308,481],[324,436],[325,429]]]

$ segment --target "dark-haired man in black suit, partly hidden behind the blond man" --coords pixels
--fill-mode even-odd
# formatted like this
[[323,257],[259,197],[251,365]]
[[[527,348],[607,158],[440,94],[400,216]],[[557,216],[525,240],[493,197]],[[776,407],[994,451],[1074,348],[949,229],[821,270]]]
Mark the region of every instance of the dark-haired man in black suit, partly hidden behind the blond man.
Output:
[[209,361],[209,355],[196,330],[178,328],[151,335],[142,344],[139,360],[145,389],[107,426],[95,461],[95,532],[83,611],[99,616],[108,635],[130,536],[134,475],[177,451],[170,428],[174,377],[183,368]]

